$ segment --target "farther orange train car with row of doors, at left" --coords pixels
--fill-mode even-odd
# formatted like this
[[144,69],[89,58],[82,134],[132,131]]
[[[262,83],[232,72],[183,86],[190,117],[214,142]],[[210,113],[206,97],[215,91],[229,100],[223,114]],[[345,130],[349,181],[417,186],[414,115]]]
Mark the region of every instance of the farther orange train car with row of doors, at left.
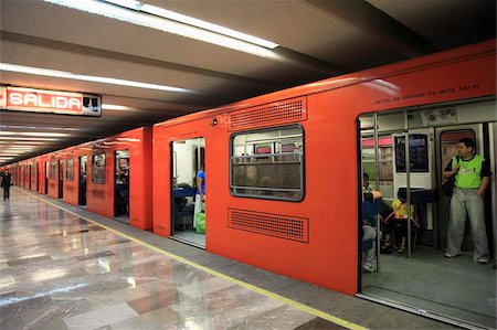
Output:
[[[152,230],[150,128],[125,131],[19,164],[24,188]],[[25,174],[30,168],[31,177]]]

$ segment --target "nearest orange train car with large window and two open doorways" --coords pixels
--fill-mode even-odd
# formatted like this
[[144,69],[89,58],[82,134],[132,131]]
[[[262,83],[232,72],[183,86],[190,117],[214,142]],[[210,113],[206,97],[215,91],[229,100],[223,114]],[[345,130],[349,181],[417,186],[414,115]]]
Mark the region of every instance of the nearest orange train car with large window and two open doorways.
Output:
[[[157,124],[154,232],[357,294],[361,291],[360,173],[368,168],[363,158],[369,157],[364,152],[371,140],[366,135],[378,135],[380,127],[401,146],[392,131],[410,137],[425,134],[432,143],[430,137],[443,127],[485,121],[495,130],[495,41],[490,41]],[[482,117],[475,120],[474,114]],[[400,127],[393,127],[395,123]],[[399,146],[390,146],[398,158]],[[411,162],[414,158],[411,155]],[[198,199],[195,172],[202,163],[205,234],[195,238],[191,210]],[[394,162],[399,171],[384,179],[388,187],[382,187],[381,178],[376,183],[384,195],[409,182],[412,190],[434,191],[433,158],[426,164],[430,170],[413,169],[409,180]],[[424,238],[433,246],[435,211],[424,212]],[[184,234],[189,230],[190,238]]]

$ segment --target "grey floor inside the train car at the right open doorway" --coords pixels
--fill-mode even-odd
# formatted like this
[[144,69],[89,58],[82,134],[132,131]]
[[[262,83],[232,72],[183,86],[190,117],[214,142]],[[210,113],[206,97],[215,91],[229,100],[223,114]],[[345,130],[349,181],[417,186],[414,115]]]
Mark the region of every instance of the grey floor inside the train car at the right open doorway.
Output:
[[363,292],[495,329],[496,270],[479,265],[472,253],[444,258],[443,252],[419,246],[405,254],[381,255],[381,272],[363,276]]

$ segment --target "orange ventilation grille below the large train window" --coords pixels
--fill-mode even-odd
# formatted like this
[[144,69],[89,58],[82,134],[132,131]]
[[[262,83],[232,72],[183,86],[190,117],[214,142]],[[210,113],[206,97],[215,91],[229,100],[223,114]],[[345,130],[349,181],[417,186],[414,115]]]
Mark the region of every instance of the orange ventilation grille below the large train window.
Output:
[[285,239],[308,242],[308,219],[229,209],[228,226]]

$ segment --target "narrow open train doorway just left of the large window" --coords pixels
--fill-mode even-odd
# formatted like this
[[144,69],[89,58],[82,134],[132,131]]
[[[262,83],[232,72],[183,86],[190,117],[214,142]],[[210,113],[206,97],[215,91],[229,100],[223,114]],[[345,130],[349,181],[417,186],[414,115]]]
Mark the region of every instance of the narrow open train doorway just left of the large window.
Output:
[[175,141],[171,143],[171,150],[172,237],[191,245],[205,247],[202,224],[199,226],[195,219],[195,212],[204,212],[204,203],[197,194],[197,174],[200,170],[204,170],[205,140],[195,138]]

